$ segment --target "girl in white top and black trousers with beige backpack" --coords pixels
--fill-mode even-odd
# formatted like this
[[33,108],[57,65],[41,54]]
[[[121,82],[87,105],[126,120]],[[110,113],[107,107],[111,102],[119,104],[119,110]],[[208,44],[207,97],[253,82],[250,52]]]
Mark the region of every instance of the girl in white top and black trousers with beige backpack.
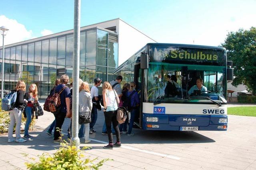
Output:
[[[120,131],[118,129],[118,121],[116,119],[117,109],[119,104],[119,98],[116,91],[112,89],[109,82],[104,82],[102,86],[102,95],[104,102],[104,116],[108,133],[108,145],[104,146],[104,149],[113,149],[115,147],[121,147]],[[116,132],[116,143],[113,144],[113,134],[111,131],[111,123],[113,124]]]

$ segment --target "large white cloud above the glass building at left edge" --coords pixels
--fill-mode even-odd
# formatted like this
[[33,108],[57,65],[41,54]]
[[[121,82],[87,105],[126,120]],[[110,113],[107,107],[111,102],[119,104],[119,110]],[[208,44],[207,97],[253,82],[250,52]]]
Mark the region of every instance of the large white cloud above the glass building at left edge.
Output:
[[[4,44],[12,44],[27,39],[31,39],[32,30],[27,30],[25,25],[18,23],[16,20],[7,18],[6,16],[0,16],[0,27],[5,26],[9,29],[7,35],[4,37]],[[0,35],[0,46],[2,46],[2,35]]]

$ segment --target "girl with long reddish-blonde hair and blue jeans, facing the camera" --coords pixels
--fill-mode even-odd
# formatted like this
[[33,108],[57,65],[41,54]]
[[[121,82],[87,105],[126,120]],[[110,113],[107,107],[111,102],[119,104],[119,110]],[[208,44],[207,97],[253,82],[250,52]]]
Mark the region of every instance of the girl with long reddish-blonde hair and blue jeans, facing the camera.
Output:
[[33,104],[37,103],[38,101],[38,91],[37,91],[37,86],[36,84],[31,84],[29,87],[29,91],[25,93],[24,98],[28,101],[28,104],[25,108],[25,112],[26,112],[26,124],[25,124],[25,129],[24,129],[24,137],[23,139],[26,140],[30,140],[31,139],[31,135],[28,134],[28,129],[29,129],[29,125],[31,123],[31,116],[33,113]]

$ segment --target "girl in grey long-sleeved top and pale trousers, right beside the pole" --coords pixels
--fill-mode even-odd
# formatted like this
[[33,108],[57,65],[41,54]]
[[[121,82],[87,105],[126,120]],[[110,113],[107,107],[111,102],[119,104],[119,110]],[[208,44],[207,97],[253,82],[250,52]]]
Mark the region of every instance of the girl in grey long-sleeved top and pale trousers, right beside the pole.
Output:
[[[92,96],[90,94],[89,84],[87,82],[82,82],[79,88],[79,114],[80,113],[92,113]],[[89,133],[90,133],[90,123],[83,124],[85,127],[85,142],[89,143]],[[81,128],[81,125],[78,125],[78,129]],[[83,128],[84,129],[84,128]]]

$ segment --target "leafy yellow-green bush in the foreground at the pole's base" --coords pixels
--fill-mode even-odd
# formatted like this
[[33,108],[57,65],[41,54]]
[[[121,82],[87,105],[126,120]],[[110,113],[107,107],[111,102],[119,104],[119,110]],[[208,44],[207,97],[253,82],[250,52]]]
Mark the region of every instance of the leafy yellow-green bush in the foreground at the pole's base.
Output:
[[[27,168],[30,170],[98,170],[104,162],[109,160],[103,159],[94,164],[93,161],[97,158],[92,160],[84,158],[84,154],[80,149],[76,149],[76,146],[71,147],[66,141],[60,145],[61,147],[53,155],[43,153],[39,156],[39,162],[26,162]],[[88,147],[84,147],[82,150],[84,149],[88,149]],[[34,158],[31,159],[34,160]]]

